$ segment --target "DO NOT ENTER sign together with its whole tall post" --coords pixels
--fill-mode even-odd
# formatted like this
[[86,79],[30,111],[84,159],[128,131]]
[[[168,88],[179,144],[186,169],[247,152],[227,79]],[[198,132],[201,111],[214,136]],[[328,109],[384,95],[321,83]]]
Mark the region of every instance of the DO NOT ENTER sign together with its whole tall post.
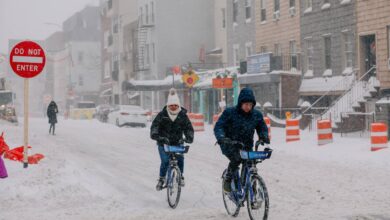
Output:
[[24,78],[24,148],[23,167],[28,167],[28,107],[29,78],[40,74],[45,67],[46,57],[42,47],[33,41],[22,41],[16,44],[10,53],[9,62],[12,70]]

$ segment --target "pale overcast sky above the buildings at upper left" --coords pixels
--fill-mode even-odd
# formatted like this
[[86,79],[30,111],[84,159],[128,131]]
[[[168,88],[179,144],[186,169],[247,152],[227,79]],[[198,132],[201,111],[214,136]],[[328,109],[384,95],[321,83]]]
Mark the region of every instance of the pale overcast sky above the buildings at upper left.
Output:
[[0,0],[0,53],[8,53],[8,39],[43,40],[60,30],[68,17],[99,0]]

